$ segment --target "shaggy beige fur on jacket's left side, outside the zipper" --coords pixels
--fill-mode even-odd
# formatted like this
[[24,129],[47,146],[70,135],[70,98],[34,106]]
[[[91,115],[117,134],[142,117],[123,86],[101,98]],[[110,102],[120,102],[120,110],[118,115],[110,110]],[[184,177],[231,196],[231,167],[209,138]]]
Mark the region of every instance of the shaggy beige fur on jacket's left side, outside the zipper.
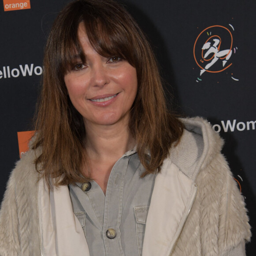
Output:
[[[39,248],[36,190],[38,173],[34,151],[29,151],[11,172],[0,208],[0,255],[29,255]],[[10,221],[11,220],[11,221]],[[33,249],[32,249],[33,250]]]

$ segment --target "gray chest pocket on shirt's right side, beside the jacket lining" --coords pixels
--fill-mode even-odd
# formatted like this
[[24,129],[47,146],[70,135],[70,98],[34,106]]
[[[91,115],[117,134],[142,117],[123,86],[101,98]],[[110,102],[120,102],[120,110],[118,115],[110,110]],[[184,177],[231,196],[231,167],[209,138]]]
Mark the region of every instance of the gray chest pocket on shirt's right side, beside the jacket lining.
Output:
[[136,206],[134,215],[136,219],[136,237],[139,256],[142,255],[143,240],[146,228],[147,213],[149,206]]

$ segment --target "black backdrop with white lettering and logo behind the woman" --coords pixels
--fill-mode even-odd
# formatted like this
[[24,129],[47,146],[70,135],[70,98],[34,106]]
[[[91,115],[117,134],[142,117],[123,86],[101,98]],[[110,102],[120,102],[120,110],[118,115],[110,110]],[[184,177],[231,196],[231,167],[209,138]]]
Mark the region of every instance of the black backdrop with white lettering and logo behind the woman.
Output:
[[[25,2],[30,2],[30,9],[20,4],[20,10],[10,11],[9,5],[4,11],[6,4]],[[47,34],[68,2],[0,1],[0,200],[19,159],[17,132],[32,129]],[[253,232],[256,1],[126,0],[124,4],[153,45],[168,101],[184,115],[207,118],[225,139],[223,153],[245,196]],[[202,68],[206,71],[200,75]],[[247,255],[255,255],[253,240]]]

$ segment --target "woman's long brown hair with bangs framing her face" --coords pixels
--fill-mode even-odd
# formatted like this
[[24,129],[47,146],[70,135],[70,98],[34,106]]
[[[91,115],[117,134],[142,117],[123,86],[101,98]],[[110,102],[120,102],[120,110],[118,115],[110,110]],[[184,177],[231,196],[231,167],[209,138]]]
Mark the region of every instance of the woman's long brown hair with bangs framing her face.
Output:
[[[60,12],[45,47],[41,96],[36,114],[33,148],[38,171],[47,184],[83,182],[88,168],[83,117],[72,105],[64,83],[75,56],[85,59],[78,39],[83,23],[92,47],[102,56],[119,56],[136,68],[138,91],[129,129],[145,172],[160,171],[169,148],[178,143],[183,124],[166,107],[154,53],[147,38],[126,9],[113,0],[76,0]],[[150,152],[150,157],[147,154]]]

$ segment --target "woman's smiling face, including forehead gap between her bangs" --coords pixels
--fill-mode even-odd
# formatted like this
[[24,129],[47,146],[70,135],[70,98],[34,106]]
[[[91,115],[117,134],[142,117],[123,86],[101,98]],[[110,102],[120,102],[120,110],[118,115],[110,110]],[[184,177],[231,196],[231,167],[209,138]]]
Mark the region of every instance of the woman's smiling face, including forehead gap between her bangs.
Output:
[[128,124],[137,93],[136,69],[118,56],[103,57],[90,45],[84,26],[78,29],[86,63],[77,59],[64,76],[68,94],[87,126]]

